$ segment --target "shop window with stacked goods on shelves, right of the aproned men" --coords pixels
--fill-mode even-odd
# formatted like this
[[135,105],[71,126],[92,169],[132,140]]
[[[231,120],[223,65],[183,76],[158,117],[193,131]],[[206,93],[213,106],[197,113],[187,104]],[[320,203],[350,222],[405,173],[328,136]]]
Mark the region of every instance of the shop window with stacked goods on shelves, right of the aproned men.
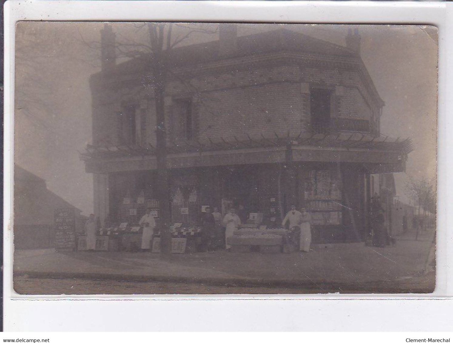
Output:
[[342,224],[342,181],[339,171],[310,170],[305,179],[305,202],[312,225]]

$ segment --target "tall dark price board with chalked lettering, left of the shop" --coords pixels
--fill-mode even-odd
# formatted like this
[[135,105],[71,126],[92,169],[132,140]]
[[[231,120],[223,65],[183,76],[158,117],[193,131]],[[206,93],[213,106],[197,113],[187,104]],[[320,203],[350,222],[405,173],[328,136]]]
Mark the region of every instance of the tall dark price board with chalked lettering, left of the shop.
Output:
[[55,249],[57,251],[76,250],[76,220],[73,208],[55,210]]

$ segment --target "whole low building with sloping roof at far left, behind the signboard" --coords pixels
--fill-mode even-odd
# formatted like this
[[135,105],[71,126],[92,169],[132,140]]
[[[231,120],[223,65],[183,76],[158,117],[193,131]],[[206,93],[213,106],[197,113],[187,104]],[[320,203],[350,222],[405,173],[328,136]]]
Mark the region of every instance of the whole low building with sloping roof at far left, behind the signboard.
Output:
[[73,208],[76,230],[83,230],[81,210],[49,191],[46,181],[14,165],[14,248],[38,249],[53,246],[54,211]]

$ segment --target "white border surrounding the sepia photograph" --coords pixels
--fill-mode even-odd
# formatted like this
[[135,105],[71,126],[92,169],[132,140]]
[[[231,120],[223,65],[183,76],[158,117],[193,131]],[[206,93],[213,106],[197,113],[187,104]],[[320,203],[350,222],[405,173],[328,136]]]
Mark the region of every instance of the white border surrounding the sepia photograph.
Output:
[[[451,3],[255,1],[28,1],[5,5],[4,313],[5,330],[417,330],[452,329],[453,5]],[[18,295],[12,289],[14,25],[19,20],[206,21],[430,24],[439,28],[438,225],[436,290],[430,295]],[[42,299],[47,299],[43,300]],[[72,299],[72,300],[69,300]],[[115,301],[115,300],[130,301]],[[212,301],[215,299],[216,301]],[[427,299],[427,300],[421,300]],[[36,301],[40,300],[40,301]],[[53,300],[53,301],[51,301]],[[87,300],[87,301],[74,301]],[[89,301],[88,301],[89,300]],[[111,301],[106,301],[111,300]],[[150,301],[153,300],[153,301]],[[179,300],[179,301],[164,301]],[[420,302],[421,301],[421,302]],[[150,311],[152,307],[152,311]],[[83,315],[80,315],[82,314]],[[118,314],[129,314],[119,316]],[[159,315],[152,315],[152,314]],[[232,314],[234,315],[227,315]],[[346,316],[345,313],[348,315]],[[175,322],[169,318],[190,318]],[[363,315],[367,314],[367,315]],[[429,314],[429,315],[427,315]],[[100,315],[102,321],[99,320]],[[371,319],[375,318],[375,319]],[[385,318],[384,318],[385,317]],[[341,318],[341,320],[339,320]],[[376,324],[376,318],[382,321]],[[64,319],[64,320],[63,320]],[[227,325],[225,323],[228,323]],[[196,323],[194,325],[194,323]],[[307,323],[310,323],[307,326]],[[326,328],[328,323],[328,328]],[[377,326],[376,326],[377,325]]]

